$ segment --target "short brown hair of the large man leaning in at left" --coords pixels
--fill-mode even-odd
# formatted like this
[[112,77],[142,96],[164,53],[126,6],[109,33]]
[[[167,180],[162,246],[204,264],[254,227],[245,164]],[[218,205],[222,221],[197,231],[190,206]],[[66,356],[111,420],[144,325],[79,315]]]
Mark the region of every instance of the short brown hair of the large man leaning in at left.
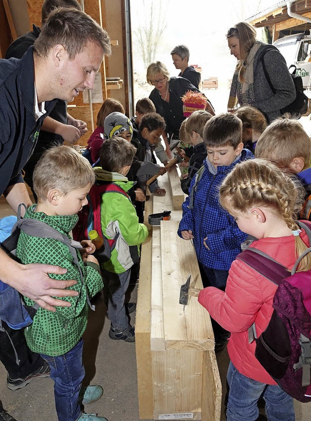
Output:
[[61,7],[50,13],[35,40],[34,51],[39,57],[47,57],[55,45],[61,44],[69,60],[74,60],[87,42],[102,47],[105,55],[111,54],[109,35],[94,19],[81,10]]

